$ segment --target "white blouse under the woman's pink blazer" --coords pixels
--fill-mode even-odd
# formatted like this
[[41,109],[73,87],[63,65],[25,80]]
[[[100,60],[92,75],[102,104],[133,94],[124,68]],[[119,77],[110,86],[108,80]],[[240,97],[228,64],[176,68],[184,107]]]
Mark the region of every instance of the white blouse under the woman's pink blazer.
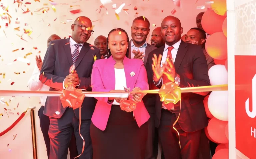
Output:
[[[115,90],[124,90],[124,88],[127,87],[124,69],[115,68],[115,79]],[[116,100],[114,100],[112,104],[120,105],[120,103],[116,102]]]

